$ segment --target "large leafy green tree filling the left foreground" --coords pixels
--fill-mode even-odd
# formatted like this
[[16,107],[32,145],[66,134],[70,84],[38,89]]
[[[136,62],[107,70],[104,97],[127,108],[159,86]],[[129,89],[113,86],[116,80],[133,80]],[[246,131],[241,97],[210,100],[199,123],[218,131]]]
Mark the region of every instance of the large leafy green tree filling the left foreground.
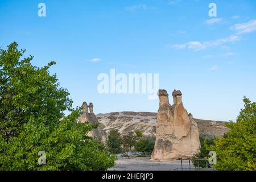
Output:
[[[0,50],[0,170],[106,170],[114,166],[102,144],[86,134],[95,129],[78,123],[66,89],[49,68],[31,64],[33,56],[11,43]],[[64,117],[64,111],[71,114]],[[39,165],[40,151],[46,164]]]

